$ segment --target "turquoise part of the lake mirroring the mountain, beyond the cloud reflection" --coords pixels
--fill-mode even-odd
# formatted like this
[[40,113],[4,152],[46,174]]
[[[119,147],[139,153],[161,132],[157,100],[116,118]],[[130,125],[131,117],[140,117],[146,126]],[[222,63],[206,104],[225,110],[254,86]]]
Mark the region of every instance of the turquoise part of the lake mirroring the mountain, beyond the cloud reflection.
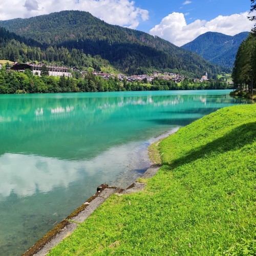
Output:
[[183,126],[223,105],[239,103],[212,92],[141,93],[0,97],[0,154],[90,159],[116,144],[154,136],[147,133],[149,122]]

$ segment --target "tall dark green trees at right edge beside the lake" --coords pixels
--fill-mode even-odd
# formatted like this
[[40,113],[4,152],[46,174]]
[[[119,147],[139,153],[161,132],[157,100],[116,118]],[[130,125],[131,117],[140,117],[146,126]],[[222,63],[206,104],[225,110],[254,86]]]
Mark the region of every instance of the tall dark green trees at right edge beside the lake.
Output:
[[232,79],[240,85],[240,94],[252,94],[256,87],[256,33],[250,33],[238,49]]

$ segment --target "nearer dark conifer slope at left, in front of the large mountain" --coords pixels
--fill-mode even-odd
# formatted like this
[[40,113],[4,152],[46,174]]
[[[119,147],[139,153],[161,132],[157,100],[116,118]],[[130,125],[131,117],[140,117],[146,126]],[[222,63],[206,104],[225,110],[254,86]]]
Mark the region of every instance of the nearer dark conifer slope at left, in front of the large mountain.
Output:
[[31,38],[16,35],[0,27],[0,59],[27,62],[29,60],[56,62],[59,65],[91,67],[100,70],[108,67],[109,61],[98,56],[84,54],[81,50],[40,44]]

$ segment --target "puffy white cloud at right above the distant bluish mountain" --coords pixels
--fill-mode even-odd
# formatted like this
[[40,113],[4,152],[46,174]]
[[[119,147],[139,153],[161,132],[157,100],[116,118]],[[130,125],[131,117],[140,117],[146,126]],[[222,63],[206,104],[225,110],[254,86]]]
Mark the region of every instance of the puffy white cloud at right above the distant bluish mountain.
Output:
[[218,16],[209,22],[197,19],[187,24],[183,13],[173,12],[164,17],[159,25],[150,30],[150,34],[162,37],[177,46],[182,46],[208,31],[226,35],[236,35],[250,31],[253,23],[247,18],[248,13]]

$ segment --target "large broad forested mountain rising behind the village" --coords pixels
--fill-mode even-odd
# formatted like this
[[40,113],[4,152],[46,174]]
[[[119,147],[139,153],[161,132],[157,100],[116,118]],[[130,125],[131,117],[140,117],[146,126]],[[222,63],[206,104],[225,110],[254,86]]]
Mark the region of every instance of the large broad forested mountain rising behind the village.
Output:
[[157,69],[186,71],[209,76],[228,69],[212,65],[170,42],[150,34],[109,25],[83,11],[61,11],[27,19],[0,21],[0,26],[51,48],[48,61],[55,61],[54,49],[65,47],[99,55],[127,73],[145,73]]

